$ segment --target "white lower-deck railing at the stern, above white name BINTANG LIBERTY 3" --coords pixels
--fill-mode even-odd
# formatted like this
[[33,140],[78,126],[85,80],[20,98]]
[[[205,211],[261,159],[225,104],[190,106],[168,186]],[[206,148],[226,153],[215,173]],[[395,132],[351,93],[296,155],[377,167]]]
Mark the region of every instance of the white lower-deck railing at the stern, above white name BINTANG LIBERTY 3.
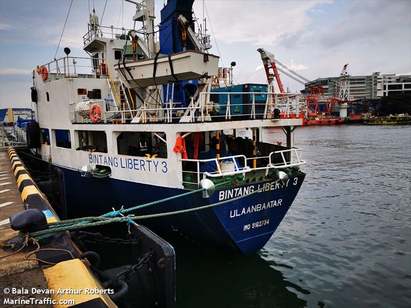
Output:
[[[303,151],[302,148],[293,147],[291,149],[270,152],[268,156],[251,157],[251,158],[247,158],[244,155],[233,155],[233,156],[211,158],[211,159],[181,159],[182,162],[194,162],[197,165],[196,166],[197,171],[182,169],[182,172],[183,174],[184,173],[195,174],[197,185],[200,183],[202,179],[206,179],[207,177],[218,178],[222,176],[233,176],[233,175],[238,175],[238,174],[245,176],[246,173],[250,171],[257,171],[257,170],[266,170],[266,176],[267,176],[270,169],[283,169],[283,168],[290,168],[293,166],[305,165],[306,161],[301,159],[302,151]],[[278,161],[276,159],[277,156],[281,157],[281,161]],[[241,162],[243,163],[242,165],[239,165],[241,164],[240,161],[237,162],[239,158],[242,159],[241,160]],[[265,162],[267,162],[268,160],[268,164],[264,167],[249,166],[249,164],[256,166],[257,160],[263,160]],[[221,162],[223,161],[233,162],[232,168],[229,169],[228,171],[221,170]],[[214,162],[216,164],[216,170],[213,172],[207,172],[207,171],[200,172],[201,164],[207,164],[209,162]],[[182,183],[183,184],[193,184],[193,182],[184,181],[184,175],[183,175]]]

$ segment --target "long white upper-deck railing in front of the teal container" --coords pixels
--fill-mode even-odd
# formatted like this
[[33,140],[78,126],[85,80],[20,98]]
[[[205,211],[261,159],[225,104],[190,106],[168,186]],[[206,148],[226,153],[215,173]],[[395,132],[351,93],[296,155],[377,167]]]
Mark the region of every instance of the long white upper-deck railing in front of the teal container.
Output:
[[[219,104],[210,100],[210,95],[221,95]],[[231,103],[233,95],[249,95],[249,103]],[[208,95],[208,96],[206,96]],[[263,100],[261,96],[264,95]],[[258,98],[258,99],[256,99]],[[221,103],[221,100],[223,103]],[[295,93],[271,93],[271,92],[201,92],[197,100],[191,98],[188,107],[176,107],[181,105],[181,101],[169,100],[162,106],[151,107],[152,104],[142,104],[137,109],[130,110],[107,110],[104,113],[119,113],[121,121],[124,123],[127,117],[122,113],[136,114],[133,123],[195,123],[206,121],[225,121],[232,119],[255,120],[255,119],[273,119],[279,120],[287,118],[300,118],[304,106],[306,106],[306,95]],[[242,108],[242,112],[236,113],[236,108]],[[275,115],[275,109],[279,113]],[[220,110],[223,110],[222,112]],[[233,110],[232,110],[233,109]],[[155,117],[153,117],[155,114]],[[138,120],[137,120],[138,118]]]

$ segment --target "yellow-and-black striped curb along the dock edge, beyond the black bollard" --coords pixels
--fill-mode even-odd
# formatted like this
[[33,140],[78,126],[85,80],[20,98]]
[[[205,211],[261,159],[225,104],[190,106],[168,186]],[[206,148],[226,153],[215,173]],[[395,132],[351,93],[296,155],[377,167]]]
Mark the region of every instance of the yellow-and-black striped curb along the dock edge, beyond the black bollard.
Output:
[[17,187],[22,196],[24,206],[26,208],[38,208],[42,210],[46,215],[48,223],[58,221],[55,215],[49,210],[50,207],[48,206],[46,197],[35,185],[16,151],[13,148],[8,148],[7,152],[10,157],[11,167],[13,169]]

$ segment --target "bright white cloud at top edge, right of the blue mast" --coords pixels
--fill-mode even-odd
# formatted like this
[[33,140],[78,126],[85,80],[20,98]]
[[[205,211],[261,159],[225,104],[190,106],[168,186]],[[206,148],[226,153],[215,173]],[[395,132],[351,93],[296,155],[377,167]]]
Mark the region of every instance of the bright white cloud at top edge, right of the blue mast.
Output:
[[[211,30],[213,27],[218,42],[275,46],[288,37],[294,40],[302,38],[307,32],[306,27],[312,22],[308,16],[309,10],[325,3],[331,2],[240,1],[233,5],[232,1],[210,1],[206,2],[204,15],[209,13],[208,28]],[[202,12],[202,2],[195,2],[193,7],[197,14]],[[227,12],[230,12],[230,18]]]

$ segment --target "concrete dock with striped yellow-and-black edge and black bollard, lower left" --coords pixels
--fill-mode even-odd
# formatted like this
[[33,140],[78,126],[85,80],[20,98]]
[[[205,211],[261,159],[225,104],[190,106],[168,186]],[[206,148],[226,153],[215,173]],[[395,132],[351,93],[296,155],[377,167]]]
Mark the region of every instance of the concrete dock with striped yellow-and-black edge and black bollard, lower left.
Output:
[[[29,154],[13,148],[0,151],[0,306],[115,308],[115,302],[121,303],[123,297],[127,296],[132,302],[144,300],[153,303],[150,306],[157,305],[160,300],[167,303],[166,306],[175,306],[174,251],[166,242],[161,246],[159,241],[162,240],[143,226],[135,227],[139,249],[147,254],[155,245],[155,253],[159,257],[150,263],[154,265],[142,263],[136,258],[136,262],[141,262],[141,265],[136,263],[135,266],[140,267],[133,269],[133,279],[140,274],[146,277],[157,275],[153,281],[160,281],[165,290],[171,291],[160,294],[160,299],[155,292],[144,291],[148,284],[140,287],[131,280],[111,282],[104,287],[96,274],[98,269],[93,269],[88,259],[90,254],[86,255],[88,251],[84,253],[79,248],[66,229],[59,230],[46,239],[36,238],[33,232],[38,229],[33,228],[33,224],[35,227],[38,227],[35,223],[42,224],[41,230],[46,230],[59,225],[60,219],[31,178],[31,169],[26,167],[20,155]],[[15,214],[18,216],[12,217]],[[10,217],[13,227],[24,230],[26,236],[11,229]],[[100,262],[98,253],[93,253]],[[150,256],[152,254],[154,253],[150,252]],[[163,263],[158,263],[165,258],[168,259],[167,268]],[[93,260],[95,259],[91,258],[91,262]],[[148,261],[150,258],[144,262]],[[129,265],[127,263],[122,266],[124,267],[109,268],[107,271],[122,273]],[[151,266],[158,267],[157,274],[150,270]],[[144,281],[152,281],[150,279],[152,278]],[[107,278],[103,281],[110,282]],[[134,294],[128,292],[129,285],[144,295],[136,299]],[[152,290],[157,288],[154,284],[150,287]],[[146,294],[151,297],[146,298]]]

